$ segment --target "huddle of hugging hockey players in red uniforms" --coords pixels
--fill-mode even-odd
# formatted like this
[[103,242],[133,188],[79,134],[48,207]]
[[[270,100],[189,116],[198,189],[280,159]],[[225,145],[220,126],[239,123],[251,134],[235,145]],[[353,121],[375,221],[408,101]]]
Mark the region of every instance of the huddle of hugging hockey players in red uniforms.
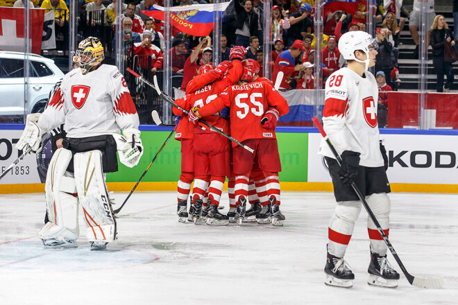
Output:
[[[178,121],[176,139],[181,142],[181,175],[178,181],[178,216],[207,225],[228,225],[253,218],[257,223],[282,225],[280,211],[281,171],[275,126],[289,107],[267,78],[258,76],[260,65],[243,60],[246,49],[235,46],[230,60],[214,69],[201,66],[186,88],[186,95],[176,101],[189,116],[173,108]],[[210,123],[230,134],[254,153],[201,124]],[[230,209],[218,211],[223,184],[228,177]],[[192,204],[187,213],[187,199],[194,180]],[[246,210],[249,200],[251,208]]]

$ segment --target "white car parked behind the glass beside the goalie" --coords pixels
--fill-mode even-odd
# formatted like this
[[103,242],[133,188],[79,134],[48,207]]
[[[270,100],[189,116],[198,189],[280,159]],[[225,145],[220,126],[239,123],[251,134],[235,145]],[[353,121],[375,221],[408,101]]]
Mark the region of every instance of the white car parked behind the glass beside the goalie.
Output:
[[[43,112],[53,86],[64,73],[49,58],[30,54],[30,103],[26,114]],[[0,116],[24,115],[24,53],[0,51]]]

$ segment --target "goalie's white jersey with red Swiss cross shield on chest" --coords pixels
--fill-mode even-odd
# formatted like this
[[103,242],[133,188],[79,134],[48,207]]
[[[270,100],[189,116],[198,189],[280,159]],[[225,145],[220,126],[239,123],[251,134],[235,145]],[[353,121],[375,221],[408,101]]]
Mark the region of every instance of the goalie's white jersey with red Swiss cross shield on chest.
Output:
[[81,138],[138,129],[139,118],[124,76],[102,64],[85,75],[79,68],[67,73],[38,123],[46,130],[65,123],[67,137]]

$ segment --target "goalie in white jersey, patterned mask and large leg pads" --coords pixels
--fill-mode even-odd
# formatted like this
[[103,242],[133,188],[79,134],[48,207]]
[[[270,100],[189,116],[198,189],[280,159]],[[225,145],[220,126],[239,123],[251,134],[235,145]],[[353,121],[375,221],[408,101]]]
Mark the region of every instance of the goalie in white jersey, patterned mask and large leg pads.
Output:
[[65,123],[63,148],[54,153],[46,174],[49,222],[40,238],[45,247],[76,247],[81,204],[91,250],[100,250],[117,235],[105,173],[117,171],[117,150],[123,164],[137,165],[143,146],[126,81],[117,67],[101,64],[101,42],[88,37],[78,45],[76,56],[80,68],[64,76],[41,115],[27,116],[16,147],[39,153],[42,134]]

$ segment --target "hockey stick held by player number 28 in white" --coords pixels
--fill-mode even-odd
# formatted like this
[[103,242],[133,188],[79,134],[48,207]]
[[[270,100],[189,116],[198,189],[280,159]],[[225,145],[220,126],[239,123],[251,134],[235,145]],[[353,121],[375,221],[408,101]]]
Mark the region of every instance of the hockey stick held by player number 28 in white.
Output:
[[[337,163],[339,166],[342,164],[342,159],[337,153],[337,150],[334,148],[332,145],[330,139],[328,138],[328,135],[326,132],[323,130],[323,126],[321,126],[321,123],[318,121],[318,118],[314,116],[312,121],[315,123],[316,128],[320,131],[321,135],[325,139],[326,143],[328,143],[329,148],[332,151],[332,154],[334,157],[337,159]],[[419,287],[419,288],[442,288],[443,287],[443,279],[425,279],[425,278],[420,278],[420,277],[414,277],[413,275],[410,275],[409,272],[405,269],[404,264],[400,260],[398,254],[394,250],[393,245],[391,245],[391,242],[389,241],[387,235],[383,232],[382,227],[380,226],[380,223],[378,223],[377,218],[375,218],[375,215],[371,211],[371,208],[369,207],[368,203],[364,199],[364,196],[362,195],[361,191],[359,191],[358,187],[356,186],[355,182],[352,182],[351,186],[353,187],[353,190],[355,191],[356,195],[359,198],[359,201],[362,202],[364,209],[366,209],[367,214],[369,214],[369,217],[377,227],[378,232],[382,236],[384,242],[387,244],[388,249],[391,251],[391,254],[393,254],[394,259],[396,259],[396,262],[398,263],[399,267],[401,268],[402,272],[404,272],[405,277],[407,277],[407,281],[413,286]]]

